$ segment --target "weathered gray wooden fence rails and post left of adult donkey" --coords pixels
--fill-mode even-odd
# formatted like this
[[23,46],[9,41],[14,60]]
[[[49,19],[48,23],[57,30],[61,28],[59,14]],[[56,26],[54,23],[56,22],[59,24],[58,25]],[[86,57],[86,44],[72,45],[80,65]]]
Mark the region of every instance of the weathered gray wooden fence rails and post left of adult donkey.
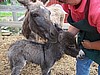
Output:
[[9,26],[9,27],[21,27],[22,26],[22,20],[24,18],[24,15],[21,17],[17,18],[16,13],[17,12],[25,12],[26,8],[24,6],[18,6],[18,5],[0,5],[0,12],[12,12],[13,16],[13,21],[1,21],[0,22],[0,27],[1,26]]

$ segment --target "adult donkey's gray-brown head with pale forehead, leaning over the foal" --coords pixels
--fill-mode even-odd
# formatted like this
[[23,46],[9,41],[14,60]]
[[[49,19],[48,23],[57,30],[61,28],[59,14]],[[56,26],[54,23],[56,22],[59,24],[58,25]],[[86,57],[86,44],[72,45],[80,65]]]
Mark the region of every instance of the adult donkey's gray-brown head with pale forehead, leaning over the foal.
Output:
[[[27,8],[25,20],[23,22],[23,35],[28,39],[32,32],[44,39],[54,42],[57,38],[57,30],[50,21],[50,11],[40,1],[30,2],[29,0],[18,0]],[[55,37],[53,37],[55,36]]]

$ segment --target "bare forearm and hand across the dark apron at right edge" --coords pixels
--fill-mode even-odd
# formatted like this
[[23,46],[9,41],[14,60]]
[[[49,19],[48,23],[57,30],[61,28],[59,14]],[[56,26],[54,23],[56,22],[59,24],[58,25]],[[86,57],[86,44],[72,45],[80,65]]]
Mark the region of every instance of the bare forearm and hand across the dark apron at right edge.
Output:
[[83,40],[82,45],[87,49],[100,50],[100,41],[90,42],[89,40]]

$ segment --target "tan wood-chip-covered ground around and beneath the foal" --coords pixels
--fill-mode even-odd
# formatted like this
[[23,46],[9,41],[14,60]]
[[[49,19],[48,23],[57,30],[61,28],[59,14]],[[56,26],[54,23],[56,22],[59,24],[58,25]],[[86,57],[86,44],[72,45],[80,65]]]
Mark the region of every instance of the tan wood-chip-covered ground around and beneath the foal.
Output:
[[[7,59],[7,49],[16,40],[24,39],[23,36],[0,36],[0,75],[10,75],[11,70]],[[51,75],[75,75],[76,60],[64,55],[52,67]],[[97,75],[97,64],[91,65],[90,75]],[[38,65],[28,63],[22,70],[21,75],[40,75],[41,70]]]

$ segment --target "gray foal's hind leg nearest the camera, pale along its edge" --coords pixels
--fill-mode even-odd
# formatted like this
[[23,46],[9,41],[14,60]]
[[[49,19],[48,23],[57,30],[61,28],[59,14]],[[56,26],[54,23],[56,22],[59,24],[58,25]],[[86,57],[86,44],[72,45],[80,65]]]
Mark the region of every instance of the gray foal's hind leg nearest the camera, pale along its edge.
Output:
[[11,75],[20,75],[20,72],[22,68],[26,65],[26,60],[24,60],[22,57],[20,59],[13,61],[13,68]]

